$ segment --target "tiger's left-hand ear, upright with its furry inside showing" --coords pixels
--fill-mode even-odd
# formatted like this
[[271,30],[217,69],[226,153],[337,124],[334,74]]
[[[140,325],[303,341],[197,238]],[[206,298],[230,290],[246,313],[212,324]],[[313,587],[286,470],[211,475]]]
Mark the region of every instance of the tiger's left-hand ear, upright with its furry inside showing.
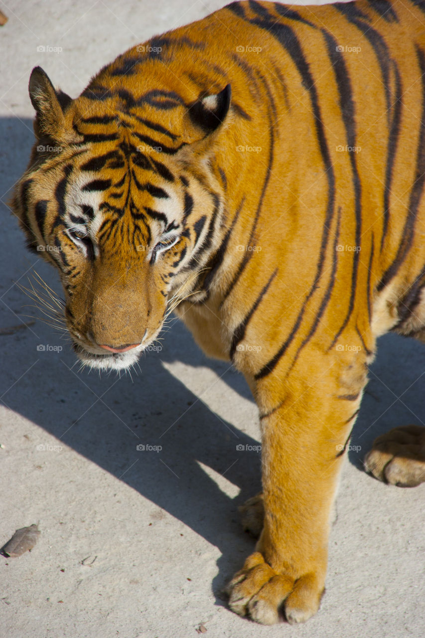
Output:
[[64,110],[72,101],[63,91],[55,91],[52,82],[40,66],[29,78],[29,97],[36,110],[36,135],[59,140],[64,131]]

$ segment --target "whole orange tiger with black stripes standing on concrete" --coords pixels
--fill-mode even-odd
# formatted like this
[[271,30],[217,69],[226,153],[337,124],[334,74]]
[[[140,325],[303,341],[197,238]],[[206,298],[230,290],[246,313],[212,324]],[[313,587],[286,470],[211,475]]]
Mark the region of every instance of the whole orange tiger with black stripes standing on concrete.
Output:
[[[265,625],[320,606],[377,338],[425,341],[424,22],[422,0],[234,2],[78,98],[29,79],[36,141],[11,209],[59,271],[82,364],[130,369],[172,308],[248,382],[258,538],[226,591]],[[423,482],[424,429],[381,436],[364,464]]]

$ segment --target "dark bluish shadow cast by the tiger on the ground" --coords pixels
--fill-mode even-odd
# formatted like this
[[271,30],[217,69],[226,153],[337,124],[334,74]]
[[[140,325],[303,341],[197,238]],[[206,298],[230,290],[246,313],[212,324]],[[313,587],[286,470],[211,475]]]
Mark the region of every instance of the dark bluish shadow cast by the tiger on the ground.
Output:
[[[31,126],[29,120],[0,120],[3,138],[14,142],[10,161],[0,167],[2,192],[24,170],[33,142]],[[3,196],[3,203],[7,197]],[[3,211],[3,224],[0,240],[6,282],[0,297],[5,304],[1,327],[19,323],[15,313],[26,299],[13,281],[31,270],[36,261],[25,251],[17,221],[7,211]],[[40,260],[34,268],[49,284],[57,281],[52,269]],[[53,286],[59,290],[57,284]],[[142,374],[134,383],[128,377],[116,382],[108,376],[99,379],[86,373],[76,375],[71,369],[75,359],[70,348],[40,323],[2,339],[5,352],[11,353],[10,363],[0,370],[6,406],[218,546],[222,553],[219,563],[225,565],[214,582],[214,590],[220,590],[241,567],[243,556],[253,549],[253,541],[239,525],[237,505],[260,489],[260,457],[250,449],[258,441],[232,424],[232,411],[241,409],[247,399],[252,400],[244,378],[229,370],[228,364],[207,359],[179,323],[165,334],[161,352],[142,359]],[[56,354],[39,352],[40,343],[55,343],[64,349]],[[399,353],[397,369],[391,366],[394,347]],[[164,367],[177,361],[195,369],[212,368],[241,397],[229,406],[227,417],[212,412],[202,396],[193,394]],[[415,369],[425,369],[424,364],[425,349],[416,342],[393,335],[381,339],[348,450],[351,463],[358,468],[362,468],[362,457],[373,438],[414,419],[406,406],[414,414],[423,412],[422,397],[412,389],[406,393],[410,394],[405,395],[406,401],[394,403],[391,410],[386,408],[394,401],[392,392],[401,395],[417,377]],[[417,419],[414,422],[420,423]],[[137,445],[145,449],[137,450]],[[244,450],[237,450],[237,445]],[[223,476],[227,487],[221,485]],[[237,496],[228,496],[238,490]]]

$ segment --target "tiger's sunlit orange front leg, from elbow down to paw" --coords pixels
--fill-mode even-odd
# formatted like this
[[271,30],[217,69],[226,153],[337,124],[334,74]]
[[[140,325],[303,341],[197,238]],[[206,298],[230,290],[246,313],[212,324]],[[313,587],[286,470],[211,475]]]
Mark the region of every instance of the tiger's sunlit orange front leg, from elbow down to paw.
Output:
[[324,593],[332,502],[366,383],[364,357],[341,368],[339,355],[347,359],[310,356],[308,373],[257,385],[259,404],[285,394],[261,418],[264,528],[227,593],[233,611],[266,625],[306,621]]

